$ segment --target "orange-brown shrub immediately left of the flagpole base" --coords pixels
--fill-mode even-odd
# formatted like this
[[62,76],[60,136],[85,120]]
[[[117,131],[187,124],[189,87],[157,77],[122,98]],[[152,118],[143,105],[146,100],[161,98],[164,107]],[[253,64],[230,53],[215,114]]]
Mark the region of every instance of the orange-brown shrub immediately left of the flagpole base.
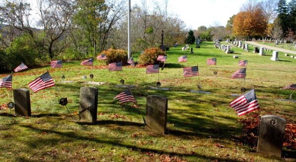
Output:
[[107,56],[107,65],[110,63],[122,62],[123,65],[127,64],[127,51],[122,49],[108,49],[102,51],[99,55],[105,54]]

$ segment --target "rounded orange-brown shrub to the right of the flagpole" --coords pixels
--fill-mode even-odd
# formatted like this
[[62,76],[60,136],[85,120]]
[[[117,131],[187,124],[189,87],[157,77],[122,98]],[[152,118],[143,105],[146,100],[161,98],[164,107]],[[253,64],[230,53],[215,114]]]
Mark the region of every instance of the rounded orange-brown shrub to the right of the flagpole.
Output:
[[139,64],[141,65],[152,65],[157,62],[158,55],[167,56],[164,51],[160,48],[148,48],[144,51],[144,53],[140,56]]

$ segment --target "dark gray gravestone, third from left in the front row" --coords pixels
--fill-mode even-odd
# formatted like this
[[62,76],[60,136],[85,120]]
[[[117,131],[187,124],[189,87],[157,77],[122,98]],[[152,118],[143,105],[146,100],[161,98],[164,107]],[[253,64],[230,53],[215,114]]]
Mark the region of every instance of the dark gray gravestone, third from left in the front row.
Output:
[[147,97],[146,130],[164,134],[167,123],[168,98],[152,95]]

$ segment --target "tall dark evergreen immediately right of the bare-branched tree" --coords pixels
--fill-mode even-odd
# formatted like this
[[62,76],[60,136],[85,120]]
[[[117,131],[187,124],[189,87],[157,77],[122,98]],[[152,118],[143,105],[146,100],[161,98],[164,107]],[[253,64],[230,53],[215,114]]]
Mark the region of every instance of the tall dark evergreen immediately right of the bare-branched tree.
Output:
[[288,15],[288,6],[287,6],[286,0],[279,0],[277,13],[278,13],[278,22],[280,23],[284,33],[288,32],[289,15]]

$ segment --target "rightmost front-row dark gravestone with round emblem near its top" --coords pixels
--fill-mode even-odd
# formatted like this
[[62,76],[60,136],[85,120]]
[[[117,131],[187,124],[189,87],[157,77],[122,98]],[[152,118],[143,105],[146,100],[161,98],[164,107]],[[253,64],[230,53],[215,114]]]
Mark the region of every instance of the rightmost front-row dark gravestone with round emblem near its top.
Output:
[[285,128],[285,119],[274,115],[262,116],[257,152],[281,157]]

